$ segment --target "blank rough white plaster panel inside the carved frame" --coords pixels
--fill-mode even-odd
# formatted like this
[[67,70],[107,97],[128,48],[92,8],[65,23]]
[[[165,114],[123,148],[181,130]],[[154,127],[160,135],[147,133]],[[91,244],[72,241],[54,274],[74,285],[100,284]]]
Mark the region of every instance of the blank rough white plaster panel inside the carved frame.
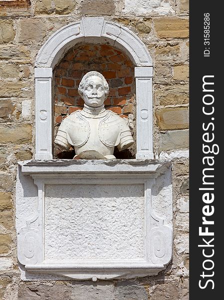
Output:
[[144,184],[47,184],[45,259],[144,259],[144,201]]

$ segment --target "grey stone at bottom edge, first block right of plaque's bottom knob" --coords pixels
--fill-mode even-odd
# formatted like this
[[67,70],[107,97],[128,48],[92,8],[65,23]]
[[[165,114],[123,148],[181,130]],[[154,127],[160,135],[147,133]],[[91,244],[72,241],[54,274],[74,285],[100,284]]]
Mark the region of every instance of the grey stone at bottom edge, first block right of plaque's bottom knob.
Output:
[[130,281],[120,281],[115,285],[115,299],[148,300],[148,295],[143,285]]

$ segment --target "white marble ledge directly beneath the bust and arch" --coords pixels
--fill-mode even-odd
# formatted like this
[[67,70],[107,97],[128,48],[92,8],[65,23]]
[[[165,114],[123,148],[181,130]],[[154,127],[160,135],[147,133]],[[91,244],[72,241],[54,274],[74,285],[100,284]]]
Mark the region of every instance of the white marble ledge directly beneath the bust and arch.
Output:
[[157,177],[164,173],[170,162],[158,159],[52,159],[18,162],[25,174],[139,174]]

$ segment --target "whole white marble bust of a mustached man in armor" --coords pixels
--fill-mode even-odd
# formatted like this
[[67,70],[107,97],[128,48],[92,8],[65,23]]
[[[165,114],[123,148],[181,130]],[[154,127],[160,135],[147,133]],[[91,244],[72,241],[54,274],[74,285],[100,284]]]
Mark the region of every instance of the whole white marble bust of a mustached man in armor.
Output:
[[65,150],[74,146],[74,158],[116,158],[113,155],[115,146],[121,151],[134,141],[125,120],[104,107],[109,94],[106,79],[101,73],[90,71],[83,76],[78,92],[84,107],[62,121],[54,142]]

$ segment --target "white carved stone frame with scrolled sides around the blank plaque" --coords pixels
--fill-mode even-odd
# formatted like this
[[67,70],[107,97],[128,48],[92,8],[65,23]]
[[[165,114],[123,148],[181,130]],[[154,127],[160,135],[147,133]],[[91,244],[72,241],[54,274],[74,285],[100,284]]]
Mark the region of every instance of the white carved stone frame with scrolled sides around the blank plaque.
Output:
[[[144,165],[144,166],[143,166]],[[153,209],[151,190],[158,176],[169,174],[170,164],[123,163],[117,161],[114,165],[106,161],[30,161],[21,166],[24,175],[30,175],[38,190],[38,205],[35,205],[33,215],[26,219],[26,225],[18,230],[18,260],[24,266],[27,278],[38,278],[39,274],[53,274],[75,279],[108,279],[116,277],[135,277],[156,275],[165,269],[172,257],[172,228],[167,221],[159,217]],[[168,172],[168,173],[167,173]],[[169,177],[169,175],[168,175]],[[44,189],[46,184],[85,184],[86,178],[90,184],[144,184],[145,188],[145,255],[143,260],[103,261],[97,260],[46,260],[44,257]],[[74,183],[75,182],[75,183]],[[172,198],[171,194],[166,197]],[[28,273],[27,273],[28,272]],[[32,277],[33,274],[33,277]],[[37,277],[36,277],[37,276]],[[46,277],[45,277],[46,278]],[[55,278],[55,277],[54,277]],[[58,277],[56,277],[57,279]],[[59,277],[60,278],[60,277]]]

